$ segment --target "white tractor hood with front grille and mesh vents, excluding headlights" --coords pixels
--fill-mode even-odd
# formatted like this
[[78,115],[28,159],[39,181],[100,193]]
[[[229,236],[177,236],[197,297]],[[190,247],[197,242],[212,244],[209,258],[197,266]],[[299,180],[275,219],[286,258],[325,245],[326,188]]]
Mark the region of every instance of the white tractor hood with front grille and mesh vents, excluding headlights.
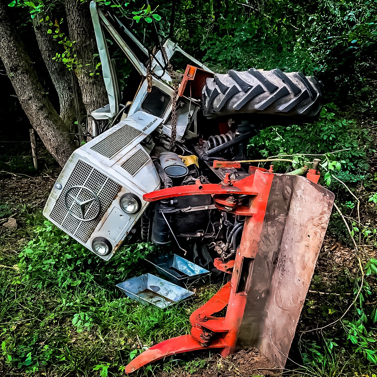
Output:
[[[158,173],[140,142],[161,122],[139,111],[76,149],[52,189],[44,216],[89,250],[93,239],[106,237],[112,252],[100,257],[109,260],[146,209],[143,194],[159,188]],[[140,198],[138,213],[121,210],[120,198],[126,193]],[[83,218],[72,195],[82,203],[97,198],[84,205]],[[89,215],[94,216],[90,221]]]

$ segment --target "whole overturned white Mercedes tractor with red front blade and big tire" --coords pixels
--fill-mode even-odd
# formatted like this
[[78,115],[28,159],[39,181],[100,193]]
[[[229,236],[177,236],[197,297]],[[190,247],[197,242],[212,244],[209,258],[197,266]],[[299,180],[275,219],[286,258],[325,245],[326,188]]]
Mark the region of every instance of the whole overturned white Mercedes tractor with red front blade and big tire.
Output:
[[[226,356],[247,346],[284,368],[334,196],[317,184],[318,161],[274,173],[251,164],[248,140],[271,116],[315,117],[322,83],[279,69],[215,74],[169,39],[150,51],[95,2],[90,9],[109,95],[92,117],[109,124],[72,154],[44,215],[105,261],[139,236],[229,275],[190,317],[190,335],[149,348],[126,371],[179,352]],[[105,32],[142,76],[126,105]],[[172,67],[176,54],[189,64]]]

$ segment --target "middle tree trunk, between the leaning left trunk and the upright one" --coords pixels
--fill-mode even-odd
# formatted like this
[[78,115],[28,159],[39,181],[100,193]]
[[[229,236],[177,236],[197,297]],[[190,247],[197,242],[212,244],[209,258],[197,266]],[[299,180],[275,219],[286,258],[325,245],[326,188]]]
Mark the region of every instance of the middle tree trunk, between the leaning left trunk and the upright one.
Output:
[[[54,34],[48,34],[47,31],[50,27],[45,17],[46,14],[35,13],[35,17],[32,19],[35,36],[43,61],[58,93],[60,118],[63,119],[71,132],[75,132],[77,131],[75,126],[76,109],[70,73],[63,63],[53,60],[57,53],[63,52],[63,49],[61,44],[58,44],[57,40],[53,38]],[[42,19],[43,21],[41,21]]]

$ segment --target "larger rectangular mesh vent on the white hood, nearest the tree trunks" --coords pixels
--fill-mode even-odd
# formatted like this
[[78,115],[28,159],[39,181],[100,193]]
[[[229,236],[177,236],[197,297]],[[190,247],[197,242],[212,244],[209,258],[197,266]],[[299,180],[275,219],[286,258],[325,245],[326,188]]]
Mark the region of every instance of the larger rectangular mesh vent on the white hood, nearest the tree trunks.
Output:
[[107,158],[112,158],[122,149],[127,147],[133,140],[141,135],[141,131],[126,124],[106,138],[94,144],[90,149]]

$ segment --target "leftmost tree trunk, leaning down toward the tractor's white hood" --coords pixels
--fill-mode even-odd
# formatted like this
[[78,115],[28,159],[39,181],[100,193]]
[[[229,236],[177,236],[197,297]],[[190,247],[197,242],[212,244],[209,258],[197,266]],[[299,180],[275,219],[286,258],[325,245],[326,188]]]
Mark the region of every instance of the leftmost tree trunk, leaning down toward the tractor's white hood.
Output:
[[0,2],[0,58],[12,82],[21,106],[44,145],[64,166],[74,146],[66,125],[43,90],[33,63]]

